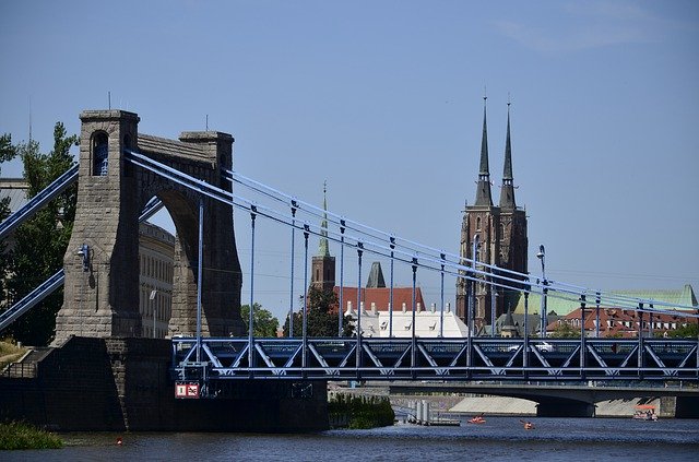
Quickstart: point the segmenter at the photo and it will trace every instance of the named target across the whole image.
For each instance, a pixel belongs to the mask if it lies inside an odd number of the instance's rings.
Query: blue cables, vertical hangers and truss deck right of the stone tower
[[[161,175],[177,185],[201,194],[200,202],[200,249],[199,249],[199,287],[198,318],[201,317],[201,291],[203,281],[203,198],[224,202],[254,216],[271,220],[282,226],[291,226],[293,230],[305,233],[305,284],[308,269],[308,237],[320,236],[323,229],[316,225],[298,225],[298,217],[293,213],[279,211],[273,206],[258,206],[252,200],[234,196],[230,191],[217,188],[203,180],[190,177],[175,168],[155,162],[142,154],[128,151],[127,161],[140,168]],[[269,198],[279,201],[286,208],[289,197],[262,183],[227,173],[232,181],[242,181]],[[236,177],[238,179],[236,179]],[[240,179],[242,178],[242,179]],[[306,214],[323,213],[311,205],[296,203],[295,206]],[[365,337],[359,329],[356,339],[311,339],[306,325],[307,306],[304,307],[304,335],[301,339],[256,339],[253,320],[250,320],[248,337],[203,339],[201,336],[201,319],[198,319],[197,337],[173,340],[173,371],[177,380],[203,381],[223,379],[386,379],[411,378],[416,380],[469,380],[496,378],[498,380],[583,380],[617,379],[623,380],[699,380],[699,342],[697,340],[644,339],[642,336],[642,319],[639,325],[639,340],[594,339],[588,340],[530,340],[524,320],[523,339],[477,337],[473,329],[475,309],[475,284],[490,284],[503,289],[517,289],[524,293],[525,315],[529,313],[529,294],[554,296],[566,299],[579,299],[584,303],[585,288],[565,283],[543,281],[530,283],[526,274],[499,269],[486,262],[477,261],[477,240],[474,239],[473,259],[462,260],[459,256],[418,245],[393,235],[382,233],[356,222],[328,213],[331,222],[340,224],[340,234],[324,229],[327,237],[344,247],[357,250],[358,288],[357,318],[362,316],[362,258],[364,252],[391,258],[394,262],[411,265],[413,269],[413,322],[411,339],[372,339]],[[320,216],[320,215],[318,215]],[[254,234],[254,225],[252,226]],[[348,233],[347,233],[348,232]],[[252,252],[252,258],[254,251]],[[419,257],[419,259],[418,259]],[[253,306],[254,261],[251,262],[251,299],[250,313]],[[342,263],[341,263],[342,264]],[[466,339],[418,339],[415,336],[416,315],[416,272],[418,270],[436,271],[443,275],[463,277],[473,286],[467,315],[471,334]],[[393,270],[391,271],[393,273]],[[62,275],[57,276],[62,282]],[[391,276],[391,286],[393,285]],[[522,284],[525,287],[522,288]],[[341,285],[342,271],[341,271]],[[293,289],[292,289],[293,292]],[[673,313],[678,311],[673,306],[655,300],[638,300],[615,294],[596,292],[595,303],[611,300],[615,306],[636,309],[639,313]],[[293,297],[293,294],[292,294]],[[292,298],[293,300],[293,298]],[[648,304],[648,308],[645,308]],[[654,305],[653,305],[654,304]],[[293,305],[293,304],[292,304]],[[657,308],[660,306],[660,308]],[[663,308],[665,307],[665,308]],[[289,308],[293,308],[289,307]],[[673,309],[671,309],[673,308]],[[680,307],[692,308],[692,307]],[[443,303],[442,303],[443,309]],[[584,310],[583,310],[584,311]],[[699,318],[699,313],[683,316]],[[641,318],[641,315],[639,315]],[[360,325],[358,319],[357,325]],[[340,321],[341,322],[341,321]],[[341,325],[341,324],[339,324]],[[545,324],[544,324],[545,325]],[[392,334],[392,327],[391,332]],[[196,360],[192,360],[194,358]],[[410,359],[408,359],[410,358]]]

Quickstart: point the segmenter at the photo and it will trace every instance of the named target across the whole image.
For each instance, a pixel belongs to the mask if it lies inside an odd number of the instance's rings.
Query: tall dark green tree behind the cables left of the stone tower
[[[68,137],[66,128],[57,122],[54,128],[54,150],[39,152],[39,144],[31,140],[14,150],[24,166],[31,199],[74,165],[70,147],[78,137]],[[75,218],[78,187],[74,185],[24,222],[14,232],[15,247],[10,253],[12,276],[8,281],[11,298],[21,299],[63,265],[70,234]],[[17,319],[10,328],[15,340],[28,345],[46,345],[56,329],[56,315],[63,301],[63,292],[56,291]]]

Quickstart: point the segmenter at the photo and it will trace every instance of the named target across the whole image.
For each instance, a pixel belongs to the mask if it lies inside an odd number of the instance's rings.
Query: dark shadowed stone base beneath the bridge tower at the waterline
[[[0,420],[56,431],[317,431],[325,381],[228,381],[215,399],[176,399],[171,343],[70,337],[0,377]]]

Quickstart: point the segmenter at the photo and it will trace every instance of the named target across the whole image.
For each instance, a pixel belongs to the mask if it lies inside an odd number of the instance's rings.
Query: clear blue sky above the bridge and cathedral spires
[[[487,88],[496,198],[512,103],[533,274],[544,244],[556,280],[699,288],[697,44],[695,1],[4,1],[0,132],[26,140],[31,106],[48,151],[108,92],[149,134],[208,115],[244,175],[318,204],[327,180],[332,211],[457,252]],[[287,234],[261,233],[284,265]],[[288,283],[266,271],[281,312]]]

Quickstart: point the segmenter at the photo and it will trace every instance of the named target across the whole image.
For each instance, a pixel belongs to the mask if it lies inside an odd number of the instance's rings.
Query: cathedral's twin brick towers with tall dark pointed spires
[[[510,104],[507,114],[507,138],[505,141],[505,168],[499,205],[493,204],[490,192],[490,171],[488,167],[488,133],[486,107],[483,106],[483,139],[481,141],[481,164],[476,200],[466,205],[461,225],[460,256],[462,259],[473,258],[476,241],[476,260],[526,273],[526,213],[517,206],[512,177],[512,150],[510,144]],[[464,264],[467,264],[462,260]],[[470,296],[473,295],[473,296]],[[508,307],[514,307],[517,293],[496,289],[484,283],[470,283],[465,279],[457,281],[457,315],[469,320],[467,307],[473,304],[474,333],[490,324],[490,320],[503,313]],[[470,300],[471,298],[471,300]]]

